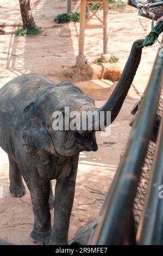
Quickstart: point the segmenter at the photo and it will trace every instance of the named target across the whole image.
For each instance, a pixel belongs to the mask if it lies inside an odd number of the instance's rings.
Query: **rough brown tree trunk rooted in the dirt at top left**
[[[36,24],[32,16],[32,11],[30,9],[29,0],[19,0],[21,16],[23,21],[23,29],[35,28]]]

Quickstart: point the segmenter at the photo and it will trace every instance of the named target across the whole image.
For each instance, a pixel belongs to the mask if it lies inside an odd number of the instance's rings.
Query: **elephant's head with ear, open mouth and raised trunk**
[[[49,154],[72,156],[80,151],[96,151],[97,143],[95,132],[101,130],[100,123],[106,127],[108,112],[111,112],[111,120],[115,120],[120,112],[124,99],[133,82],[136,70],[139,66],[142,53],[142,40],[134,42],[122,76],[117,83],[114,91],[108,101],[101,108],[95,106],[95,101],[71,83],[61,83],[59,86],[45,86],[39,90],[35,100],[24,109],[24,117],[29,120],[23,129],[23,142],[42,150]],[[82,129],[82,126],[75,130],[53,129],[53,113],[62,113],[65,115],[65,107],[70,112],[76,111],[80,114],[80,120],[83,113],[103,112],[103,119],[97,121],[93,118],[91,128],[89,124]],[[68,119],[70,125],[71,118]],[[82,123],[82,122],[81,122]]]

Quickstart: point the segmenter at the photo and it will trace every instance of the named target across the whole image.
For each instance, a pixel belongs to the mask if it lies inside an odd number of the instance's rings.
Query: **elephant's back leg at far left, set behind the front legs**
[[[23,185],[22,175],[18,164],[9,157],[9,179],[10,179],[10,193],[12,197],[22,197],[26,193],[26,188]]]

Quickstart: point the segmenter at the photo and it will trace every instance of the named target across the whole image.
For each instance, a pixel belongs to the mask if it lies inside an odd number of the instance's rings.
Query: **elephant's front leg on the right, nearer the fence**
[[[61,178],[55,186],[54,225],[49,245],[67,245],[68,228],[74,199],[76,170],[69,177]]]

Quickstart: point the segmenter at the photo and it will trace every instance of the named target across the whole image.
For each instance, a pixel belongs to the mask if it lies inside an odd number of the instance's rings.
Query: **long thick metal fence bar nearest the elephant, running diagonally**
[[[134,243],[133,202],[148,141],[153,131],[162,83],[163,58],[159,57],[158,53],[139,114],[129,136],[126,153],[106,195],[90,245]]]

